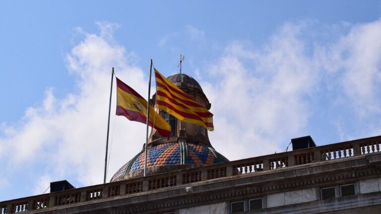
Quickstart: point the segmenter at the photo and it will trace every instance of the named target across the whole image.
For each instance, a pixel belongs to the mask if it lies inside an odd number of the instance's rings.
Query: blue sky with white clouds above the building
[[[111,67],[193,76],[230,160],[381,134],[381,1],[0,0],[0,201],[103,181]],[[113,104],[115,100],[113,100]],[[112,116],[108,179],[144,125]]]

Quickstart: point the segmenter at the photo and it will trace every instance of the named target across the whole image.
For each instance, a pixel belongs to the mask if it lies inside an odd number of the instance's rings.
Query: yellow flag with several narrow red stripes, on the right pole
[[[154,70],[156,107],[167,111],[181,121],[197,124],[213,131],[213,114],[165,78],[156,68]]]

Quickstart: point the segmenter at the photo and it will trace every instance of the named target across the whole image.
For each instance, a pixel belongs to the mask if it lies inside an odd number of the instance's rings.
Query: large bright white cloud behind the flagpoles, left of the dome
[[[40,187],[46,188],[49,183],[41,182],[50,178],[71,176],[82,185],[103,182],[112,67],[119,78],[146,94],[141,69],[128,63],[130,53],[125,48],[110,41],[116,25],[104,22],[98,26],[100,35],[83,33],[84,40],[67,54],[68,69],[80,77],[77,92],[57,99],[54,90],[48,89],[41,106],[29,107],[24,118],[13,126],[2,125],[0,151],[2,158],[9,160],[5,167],[39,164],[39,170],[49,172],[36,181],[35,193]],[[140,151],[145,127],[115,118],[115,95],[111,111],[111,133],[114,128],[115,134],[109,171],[113,173]]]

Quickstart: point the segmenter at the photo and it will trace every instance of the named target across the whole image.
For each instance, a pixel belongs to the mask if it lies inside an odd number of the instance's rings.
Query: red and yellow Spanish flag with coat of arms
[[[156,129],[160,135],[169,137],[171,126],[161,117],[153,107],[149,109],[149,126]],[[117,115],[129,120],[146,124],[147,101],[126,83],[117,78]]]

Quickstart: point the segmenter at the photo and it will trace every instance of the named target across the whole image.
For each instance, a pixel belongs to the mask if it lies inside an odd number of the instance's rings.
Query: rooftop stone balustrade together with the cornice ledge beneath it
[[[226,188],[229,186],[226,182],[232,179],[236,180],[232,185],[237,187],[248,185],[246,178],[253,184],[373,163],[380,167],[380,144],[381,136],[370,137],[3,201],[0,202],[0,214],[48,212],[185,187],[191,188],[186,188],[184,194],[191,194],[200,190],[197,186],[203,185],[208,185],[208,191],[214,191],[215,188]],[[273,173],[277,176],[271,176]]]

